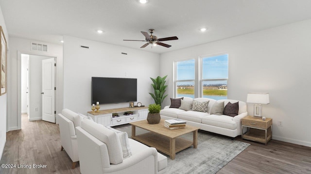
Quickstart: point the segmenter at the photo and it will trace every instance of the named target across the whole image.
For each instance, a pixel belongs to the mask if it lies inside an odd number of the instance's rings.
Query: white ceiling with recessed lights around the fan
[[[154,53],[311,19],[311,0],[0,0],[0,6],[10,36],[60,44],[70,35]],[[170,48],[122,41],[144,40],[140,31],[148,29],[179,40],[163,42]]]

